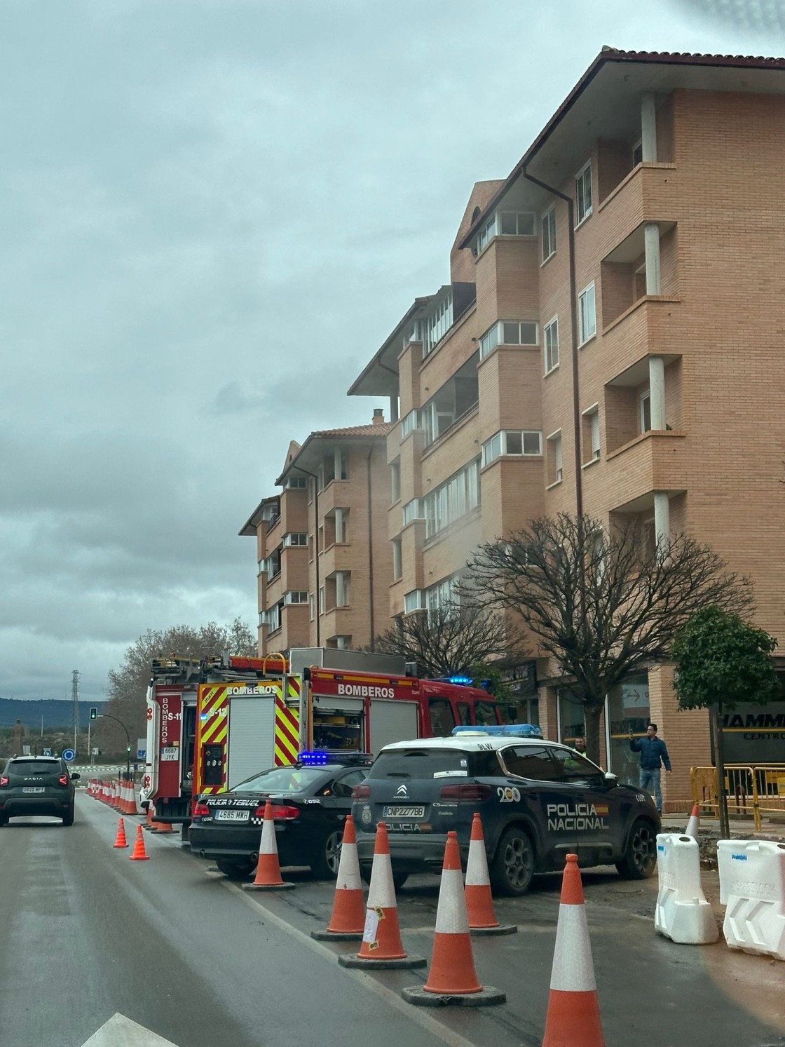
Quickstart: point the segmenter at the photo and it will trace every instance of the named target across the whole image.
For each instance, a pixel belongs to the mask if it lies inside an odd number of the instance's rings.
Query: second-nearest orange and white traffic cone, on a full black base
[[[504,1003],[507,996],[490,985],[483,987],[474,970],[469,915],[466,910],[464,877],[457,833],[447,833],[442,883],[439,889],[436,930],[433,955],[425,985],[405,988],[401,996],[408,1003],[439,1007],[446,1003],[478,1007]]]

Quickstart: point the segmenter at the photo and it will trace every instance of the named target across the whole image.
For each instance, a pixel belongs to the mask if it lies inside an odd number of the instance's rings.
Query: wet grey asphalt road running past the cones
[[[558,877],[497,905],[518,934],[474,943],[480,981],[507,1004],[424,1010],[399,996],[424,972],[347,971],[336,955],[356,944],[311,939],[330,916],[329,885],[295,872],[295,890],[249,895],[177,834],[145,833],[151,861],[130,862],[112,848],[116,827],[116,812],[80,795],[71,828],[29,819],[0,830],[3,1044],[539,1047]],[[785,1045],[785,965],[656,935],[656,879],[592,871],[584,887],[607,1047]],[[430,957],[438,891],[421,876],[399,894],[411,953]]]

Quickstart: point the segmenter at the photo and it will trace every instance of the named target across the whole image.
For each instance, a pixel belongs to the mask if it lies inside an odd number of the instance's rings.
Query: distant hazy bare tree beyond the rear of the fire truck
[[[144,695],[153,659],[176,654],[180,658],[220,658],[228,648],[232,654],[253,655],[256,643],[239,618],[230,625],[208,622],[195,629],[175,625],[169,629],[148,629],[127,648],[119,669],[109,671],[108,701],[104,709],[129,730],[131,743],[147,731]],[[96,744],[111,752],[125,752],[126,735],[112,720],[98,720]]]

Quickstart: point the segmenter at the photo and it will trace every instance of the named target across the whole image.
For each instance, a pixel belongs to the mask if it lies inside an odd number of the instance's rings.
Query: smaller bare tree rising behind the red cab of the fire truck
[[[513,664],[523,656],[503,614],[447,603],[406,615],[374,641],[374,650],[417,662],[421,676],[474,674],[489,661]]]

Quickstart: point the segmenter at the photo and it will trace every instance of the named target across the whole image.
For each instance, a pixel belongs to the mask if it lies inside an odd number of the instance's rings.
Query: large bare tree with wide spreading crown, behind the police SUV
[[[608,533],[599,520],[564,513],[480,545],[466,593],[478,606],[520,615],[583,703],[586,748],[597,760],[612,687],[667,660],[674,633],[701,607],[749,612],[750,583],[726,566],[686,535],[647,550],[634,522]]]

